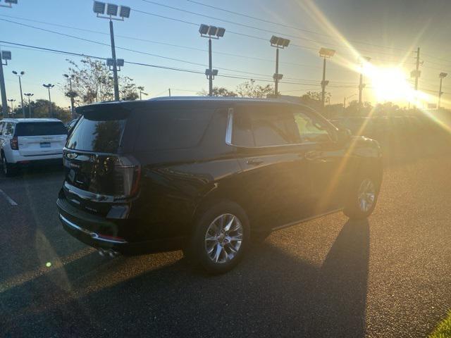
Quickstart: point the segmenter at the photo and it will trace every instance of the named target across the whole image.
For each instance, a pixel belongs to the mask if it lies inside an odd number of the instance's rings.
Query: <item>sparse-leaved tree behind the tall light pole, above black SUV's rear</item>
[[[69,63],[68,75],[65,77],[63,92],[73,97],[75,104],[92,104],[96,101],[114,99],[114,82],[109,68],[104,61],[84,58],[80,64],[66,59]],[[70,82],[72,81],[72,91]],[[118,77],[121,99],[135,100],[139,97],[136,84],[130,77]]]

